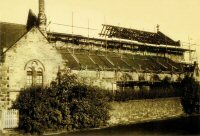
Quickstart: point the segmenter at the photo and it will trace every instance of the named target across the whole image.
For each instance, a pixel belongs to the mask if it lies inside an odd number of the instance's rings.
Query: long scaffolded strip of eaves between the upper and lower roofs
[[[130,51],[149,51],[152,53],[169,53],[175,55],[183,55],[184,52],[194,51],[181,46],[171,45],[155,45],[147,43],[139,43],[132,40],[112,39],[112,38],[91,38],[81,35],[72,35],[56,32],[47,32],[48,40],[50,42],[61,41],[66,44],[71,43],[78,46],[94,45],[97,47],[104,47],[107,49],[124,49]]]

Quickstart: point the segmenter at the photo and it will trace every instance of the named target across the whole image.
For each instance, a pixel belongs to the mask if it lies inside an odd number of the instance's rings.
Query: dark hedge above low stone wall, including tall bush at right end
[[[137,99],[156,99],[167,97],[181,97],[182,105],[186,113],[200,113],[200,82],[194,78],[185,78],[175,83],[167,77],[156,85],[146,89],[144,86],[139,90],[129,88],[117,90],[115,93],[107,92],[110,101],[128,101]]]

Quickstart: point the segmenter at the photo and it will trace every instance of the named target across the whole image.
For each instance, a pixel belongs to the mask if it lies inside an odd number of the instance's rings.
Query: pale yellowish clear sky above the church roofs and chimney
[[[96,37],[104,23],[150,32],[159,24],[161,32],[200,52],[200,0],[45,0],[45,8],[50,31]],[[38,0],[0,0],[0,21],[26,24],[29,9],[37,15]],[[56,25],[72,22],[95,30]]]

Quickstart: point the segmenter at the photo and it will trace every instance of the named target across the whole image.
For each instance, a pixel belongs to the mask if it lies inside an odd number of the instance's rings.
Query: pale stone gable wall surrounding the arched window
[[[29,68],[34,65],[41,67],[42,83],[43,86],[47,86],[56,78],[59,67],[63,66],[63,60],[60,53],[34,27],[6,52],[3,65],[9,69],[8,76],[3,78],[9,77],[7,93],[12,101],[21,89],[28,86]]]

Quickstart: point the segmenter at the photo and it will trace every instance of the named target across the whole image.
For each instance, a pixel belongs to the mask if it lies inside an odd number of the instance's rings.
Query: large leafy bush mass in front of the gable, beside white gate
[[[82,129],[106,125],[108,99],[103,90],[78,82],[70,72],[59,73],[46,88],[24,89],[12,108],[19,109],[19,128],[27,133],[48,129]]]

